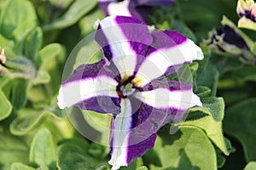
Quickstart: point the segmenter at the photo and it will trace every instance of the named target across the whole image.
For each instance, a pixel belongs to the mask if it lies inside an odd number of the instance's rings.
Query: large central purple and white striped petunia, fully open
[[[150,32],[125,16],[100,21],[95,39],[104,59],[80,65],[61,84],[58,105],[113,114],[109,163],[116,170],[151,149],[160,127],[202,105],[191,85],[166,77],[203,54],[177,31]]]

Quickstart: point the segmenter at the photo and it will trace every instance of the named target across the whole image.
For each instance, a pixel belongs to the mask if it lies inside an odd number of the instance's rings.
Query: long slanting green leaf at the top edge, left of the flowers
[[[67,12],[61,16],[61,18],[51,22],[49,25],[44,26],[44,31],[49,31],[53,29],[61,29],[67,26],[72,26],[76,23],[84,14],[87,14],[92,8],[96,6],[97,1],[84,1],[76,0],[68,8]]]

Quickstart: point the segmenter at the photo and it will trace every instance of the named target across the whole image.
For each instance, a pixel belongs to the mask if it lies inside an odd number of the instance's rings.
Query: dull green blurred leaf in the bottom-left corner
[[[0,132],[0,169],[9,170],[13,162],[28,163],[28,146],[19,137]]]

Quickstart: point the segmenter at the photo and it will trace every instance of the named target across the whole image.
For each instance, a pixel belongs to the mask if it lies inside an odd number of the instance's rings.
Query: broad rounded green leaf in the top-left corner
[[[3,9],[0,19],[0,32],[4,37],[13,38],[13,33],[17,27],[19,32],[30,30],[33,24],[36,23],[37,15],[30,3],[27,0],[9,0],[7,6]]]

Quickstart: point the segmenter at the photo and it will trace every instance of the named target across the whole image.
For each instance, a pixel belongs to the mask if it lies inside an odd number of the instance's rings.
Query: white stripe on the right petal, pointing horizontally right
[[[202,106],[200,98],[192,92],[192,89],[170,91],[166,88],[157,88],[152,91],[137,92],[134,96],[157,109],[174,108],[184,111],[194,105]]]

